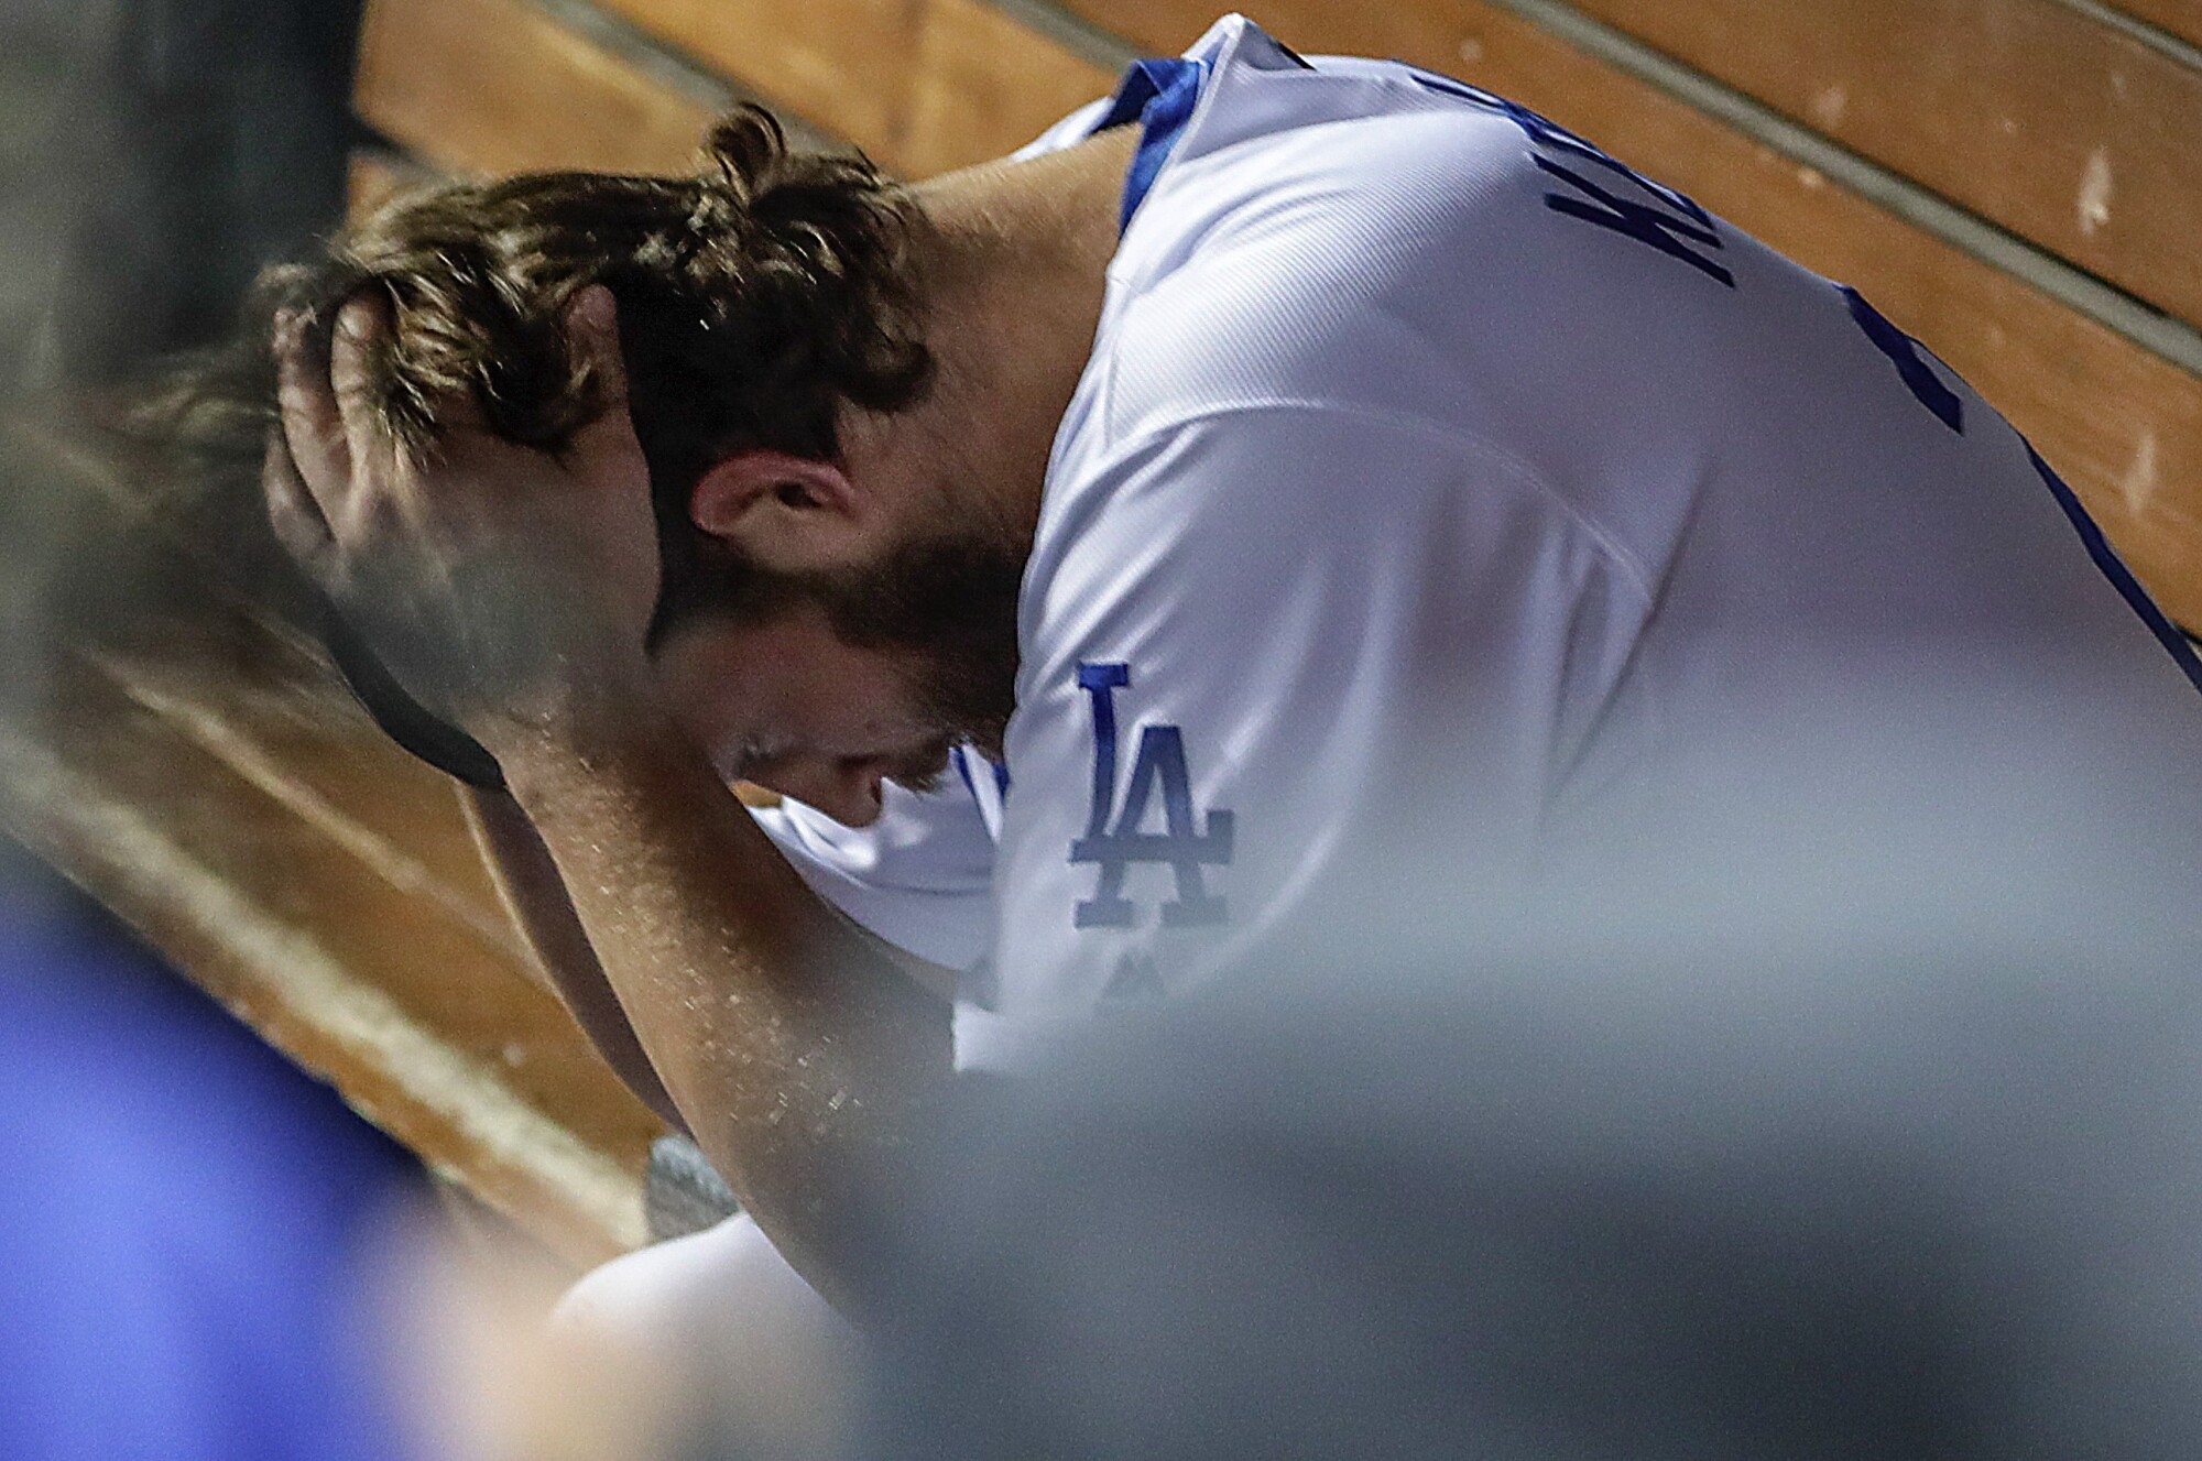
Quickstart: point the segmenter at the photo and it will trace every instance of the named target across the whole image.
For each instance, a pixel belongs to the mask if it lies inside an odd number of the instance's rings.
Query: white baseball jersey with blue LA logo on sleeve
[[[821,893],[973,966],[960,1063],[1255,962],[1389,819],[1511,869],[1845,675],[2076,651],[2202,759],[2184,640],[1856,293],[1533,112],[1235,15],[1035,147],[1103,125],[1143,141],[1006,768],[863,832],[771,819]]]

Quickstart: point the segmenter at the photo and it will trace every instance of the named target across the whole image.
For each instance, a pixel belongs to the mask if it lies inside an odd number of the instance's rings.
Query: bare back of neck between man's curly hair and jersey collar
[[[872,425],[892,438],[881,447],[927,462],[934,488],[989,521],[1020,559],[1101,321],[1136,145],[1138,128],[1119,128],[912,189],[936,376],[918,407]]]

